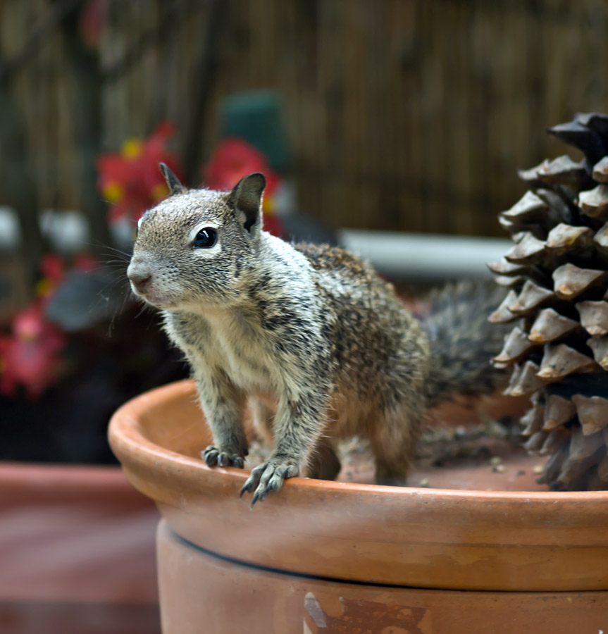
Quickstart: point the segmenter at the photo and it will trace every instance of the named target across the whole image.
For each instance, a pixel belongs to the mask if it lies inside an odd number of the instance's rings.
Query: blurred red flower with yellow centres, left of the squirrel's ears
[[[159,163],[166,163],[178,178],[178,159],[168,151],[166,142],[173,135],[173,124],[161,123],[152,135],[127,139],[120,153],[104,154],[97,159],[98,187],[112,204],[111,222],[128,216],[136,221],[151,206],[166,198],[168,189]]]

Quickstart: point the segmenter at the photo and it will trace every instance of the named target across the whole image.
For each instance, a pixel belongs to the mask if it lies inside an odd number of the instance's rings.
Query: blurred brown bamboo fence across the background
[[[608,110],[604,1],[106,0],[90,48],[83,6],[0,0],[0,204],[25,225],[83,209],[103,238],[96,154],[167,118],[200,165],[221,99],[271,89],[302,211],[502,235],[516,168],[564,153],[545,127]]]

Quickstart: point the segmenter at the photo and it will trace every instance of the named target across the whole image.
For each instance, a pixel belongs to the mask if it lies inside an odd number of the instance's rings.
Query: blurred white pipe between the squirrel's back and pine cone
[[[337,231],[342,247],[373,264],[379,273],[401,280],[478,278],[491,275],[513,246],[500,238],[395,233],[360,229]]]

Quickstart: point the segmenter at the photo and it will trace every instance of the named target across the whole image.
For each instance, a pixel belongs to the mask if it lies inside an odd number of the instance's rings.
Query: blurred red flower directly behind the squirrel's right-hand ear
[[[280,218],[274,213],[275,194],[279,175],[266,162],[266,156],[240,137],[228,137],[218,144],[211,160],[203,168],[204,184],[209,189],[228,192],[243,176],[261,172],[266,176],[263,198],[264,229],[274,235],[283,235]]]

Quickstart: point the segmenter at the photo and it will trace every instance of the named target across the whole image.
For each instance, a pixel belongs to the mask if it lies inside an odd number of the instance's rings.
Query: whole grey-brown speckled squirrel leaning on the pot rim
[[[428,408],[503,383],[490,366],[504,339],[487,323],[494,282],[452,287],[418,319],[356,256],[264,231],[261,173],[216,192],[160,167],[170,194],[140,218],[128,278],[190,362],[213,433],[205,463],[244,466],[247,405],[274,438],[241,490],[252,506],[295,475],[335,479],[333,444],[353,435],[379,483],[404,483]]]

